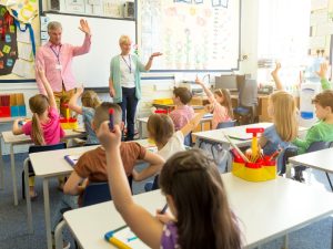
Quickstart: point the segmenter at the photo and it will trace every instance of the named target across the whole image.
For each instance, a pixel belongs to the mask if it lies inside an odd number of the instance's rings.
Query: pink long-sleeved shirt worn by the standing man
[[[91,38],[90,35],[85,35],[81,46],[73,46],[71,44],[53,45],[51,42],[48,42],[38,50],[36,62],[43,66],[53,92],[62,91],[62,82],[65,91],[75,87],[75,79],[72,72],[73,56],[88,53],[90,45]],[[36,73],[36,81],[40,93],[46,95],[46,90],[38,73]]]

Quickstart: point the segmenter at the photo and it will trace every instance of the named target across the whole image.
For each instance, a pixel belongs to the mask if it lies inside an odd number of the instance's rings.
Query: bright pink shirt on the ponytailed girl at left
[[[64,132],[60,126],[59,122],[59,113],[57,108],[49,108],[49,118],[50,121],[47,124],[41,123],[41,128],[43,131],[44,141],[47,145],[51,144],[58,144],[60,139],[64,136]],[[30,136],[33,141],[33,137],[31,136],[32,133],[32,122],[29,121],[22,126],[22,131],[26,135]]]

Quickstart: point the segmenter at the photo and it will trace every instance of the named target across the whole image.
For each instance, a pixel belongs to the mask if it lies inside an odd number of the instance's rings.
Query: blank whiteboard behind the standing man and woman
[[[50,21],[62,24],[62,42],[72,45],[83,43],[84,33],[79,30],[81,17],[47,13]],[[90,52],[73,59],[73,73],[78,85],[85,87],[109,87],[111,59],[120,54],[119,38],[129,35],[135,41],[135,22],[104,18],[83,18],[91,29]]]

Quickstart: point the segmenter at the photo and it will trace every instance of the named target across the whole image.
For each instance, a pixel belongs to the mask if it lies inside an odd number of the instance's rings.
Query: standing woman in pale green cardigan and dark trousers
[[[134,117],[137,105],[141,98],[140,72],[147,72],[155,56],[162,53],[153,53],[143,65],[135,54],[130,54],[132,41],[128,35],[119,39],[121,53],[111,60],[110,65],[110,96],[122,110],[122,121],[127,123],[128,133],[125,141],[134,138]]]

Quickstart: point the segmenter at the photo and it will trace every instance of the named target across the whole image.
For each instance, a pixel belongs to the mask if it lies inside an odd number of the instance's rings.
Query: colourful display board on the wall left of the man
[[[0,83],[34,81],[37,0],[0,0]]]

